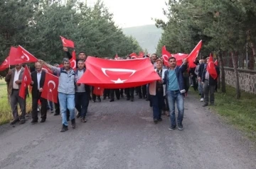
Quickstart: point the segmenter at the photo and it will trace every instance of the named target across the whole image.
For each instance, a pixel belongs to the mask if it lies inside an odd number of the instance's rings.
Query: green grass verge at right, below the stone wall
[[[235,88],[227,86],[226,89],[226,93],[215,93],[216,106],[210,106],[210,109],[256,142],[256,95],[241,91],[241,99],[237,100]]]

